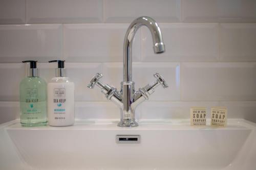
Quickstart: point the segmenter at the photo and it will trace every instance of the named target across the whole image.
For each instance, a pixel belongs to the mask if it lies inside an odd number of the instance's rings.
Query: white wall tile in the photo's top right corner
[[[254,0],[183,0],[185,22],[255,22]]]

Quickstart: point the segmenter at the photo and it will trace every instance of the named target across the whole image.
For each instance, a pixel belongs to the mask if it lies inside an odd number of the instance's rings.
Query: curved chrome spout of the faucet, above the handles
[[[156,54],[165,51],[163,37],[157,22],[148,16],[142,16],[135,19],[124,37],[123,43],[123,81],[132,82],[132,42],[136,31],[141,27],[146,26],[152,35],[153,49]]]

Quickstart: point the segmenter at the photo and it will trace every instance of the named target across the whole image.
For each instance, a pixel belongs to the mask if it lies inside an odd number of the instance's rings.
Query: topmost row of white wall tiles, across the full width
[[[2,0],[0,23],[255,22],[254,0]]]

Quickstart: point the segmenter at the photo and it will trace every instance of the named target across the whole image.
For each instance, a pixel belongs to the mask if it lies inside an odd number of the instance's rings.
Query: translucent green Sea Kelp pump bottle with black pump
[[[37,75],[37,61],[30,62],[28,77],[19,84],[20,124],[45,126],[47,124],[47,84]]]

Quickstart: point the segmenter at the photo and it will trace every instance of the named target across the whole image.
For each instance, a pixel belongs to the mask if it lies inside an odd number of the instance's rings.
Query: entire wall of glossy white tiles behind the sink
[[[166,52],[154,54],[150,32],[138,31],[136,89],[152,83],[154,72],[169,88],[158,88],[138,107],[137,118],[188,118],[191,106],[208,111],[226,106],[228,117],[256,122],[256,1],[4,0],[0,123],[18,117],[19,82],[26,76],[20,62],[27,59],[38,60],[46,81],[54,77],[55,64],[49,60],[67,61],[67,75],[75,82],[76,118],[119,118],[119,109],[100,90],[86,86],[101,72],[104,83],[120,89],[124,34],[142,15],[159,22]]]

